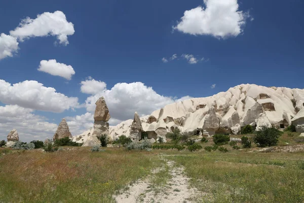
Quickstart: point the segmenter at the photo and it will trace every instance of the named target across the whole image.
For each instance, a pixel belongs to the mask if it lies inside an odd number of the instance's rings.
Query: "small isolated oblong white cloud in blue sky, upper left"
[[[53,76],[60,76],[67,80],[71,80],[72,75],[75,74],[75,71],[71,65],[58,63],[55,59],[40,61],[40,66],[37,70]]]

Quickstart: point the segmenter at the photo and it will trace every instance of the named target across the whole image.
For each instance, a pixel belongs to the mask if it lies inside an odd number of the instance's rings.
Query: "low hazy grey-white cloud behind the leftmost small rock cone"
[[[57,125],[35,115],[32,109],[17,105],[0,106],[0,140],[6,140],[12,129],[17,129],[21,141],[30,142],[51,138]]]

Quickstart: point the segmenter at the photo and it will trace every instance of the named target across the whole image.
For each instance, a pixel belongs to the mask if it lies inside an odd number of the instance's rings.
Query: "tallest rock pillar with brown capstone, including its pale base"
[[[84,141],[83,147],[92,147],[96,145],[100,145],[99,138],[102,135],[108,136],[109,141],[112,140],[112,137],[109,136],[109,123],[107,122],[111,116],[109,114],[109,109],[106,106],[104,97],[100,97],[96,101],[96,109],[94,113],[94,129],[93,132],[88,132],[88,134],[84,134],[81,138],[78,136],[77,142]]]

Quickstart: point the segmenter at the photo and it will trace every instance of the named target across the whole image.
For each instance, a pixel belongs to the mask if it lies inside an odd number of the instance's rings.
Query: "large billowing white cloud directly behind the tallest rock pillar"
[[[133,118],[135,111],[141,116],[148,115],[155,110],[174,103],[176,100],[181,101],[191,98],[185,96],[177,99],[163,96],[154,91],[152,87],[147,87],[141,82],[118,83],[110,90],[104,89],[95,95],[89,96],[86,99],[88,112],[94,113],[96,108],[95,102],[101,96],[105,97],[109,108],[111,115],[109,123],[111,125]]]

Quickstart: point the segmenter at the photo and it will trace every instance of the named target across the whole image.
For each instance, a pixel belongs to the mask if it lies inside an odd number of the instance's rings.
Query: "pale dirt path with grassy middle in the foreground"
[[[168,161],[145,180],[128,186],[122,194],[116,196],[118,203],[133,202],[193,202],[197,191],[190,188],[189,178],[184,175],[183,167],[175,167]]]

